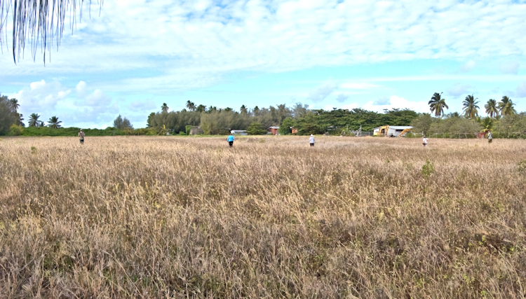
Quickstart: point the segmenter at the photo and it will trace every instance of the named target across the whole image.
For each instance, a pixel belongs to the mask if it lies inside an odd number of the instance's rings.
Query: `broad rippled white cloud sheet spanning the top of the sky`
[[[8,76],[126,72],[113,87],[121,90],[187,90],[232,71],[400,60],[459,60],[470,71],[487,58],[523,59],[525,14],[512,0],[107,1],[100,16],[85,15],[65,34],[45,68],[27,57],[15,67],[6,52],[0,64]],[[155,71],[137,74],[145,69]]]

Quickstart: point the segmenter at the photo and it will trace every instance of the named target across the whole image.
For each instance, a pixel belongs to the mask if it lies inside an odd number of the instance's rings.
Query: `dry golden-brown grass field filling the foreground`
[[[0,139],[0,298],[525,297],[525,141],[307,140]]]

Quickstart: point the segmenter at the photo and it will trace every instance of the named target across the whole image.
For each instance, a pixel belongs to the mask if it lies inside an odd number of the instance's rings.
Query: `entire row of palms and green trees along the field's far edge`
[[[497,102],[489,99],[485,104],[487,117],[478,115],[480,106],[476,97],[468,95],[462,102],[462,113],[445,113],[449,109],[442,93],[435,92],[429,101],[431,113],[417,113],[410,109],[384,110],[384,113],[365,109],[309,109],[309,106],[296,103],[293,106],[249,108],[242,105],[238,111],[227,107],[205,106],[187,101],[180,111],[170,111],[163,103],[161,111],[150,113],[147,127],[134,129],[128,118],[121,115],[113,122],[112,134],[166,134],[179,132],[188,134],[189,127],[200,126],[204,134],[228,134],[230,130],[247,130],[249,134],[265,134],[267,128],[278,126],[281,134],[341,134],[342,130],[371,131],[382,125],[412,125],[414,132],[480,132],[498,130],[499,132],[523,132],[526,129],[525,113],[517,113],[513,101],[504,96]],[[12,130],[20,134],[25,127],[24,118],[18,113],[20,104],[17,99],[8,99],[0,95],[0,134],[9,134]],[[56,116],[49,118],[47,124],[37,113],[32,113],[27,121],[28,127],[48,127],[60,129],[62,121]],[[14,127],[13,127],[14,126]],[[18,132],[18,133],[17,133]],[[13,134],[14,134],[13,133]],[[53,133],[55,134],[55,133]]]

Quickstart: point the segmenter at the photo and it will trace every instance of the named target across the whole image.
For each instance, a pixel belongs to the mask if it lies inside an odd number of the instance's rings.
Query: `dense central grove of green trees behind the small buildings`
[[[148,127],[166,126],[174,132],[186,132],[187,125],[200,126],[204,134],[228,134],[230,130],[247,130],[250,133],[265,134],[271,126],[280,127],[281,134],[291,134],[292,128],[298,134],[323,134],[335,132],[342,128],[363,127],[372,130],[380,125],[410,125],[418,113],[410,109],[391,109],[384,113],[365,109],[309,109],[309,105],[296,103],[293,106],[279,104],[268,108],[255,106],[248,108],[242,105],[238,111],[227,107],[196,105],[188,101],[186,108],[170,111],[166,103],[161,111],[151,113],[147,120]],[[249,130],[250,129],[250,130]]]

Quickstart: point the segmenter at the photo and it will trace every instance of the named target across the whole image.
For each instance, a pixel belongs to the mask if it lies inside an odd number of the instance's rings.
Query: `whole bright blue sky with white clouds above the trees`
[[[45,66],[29,48],[15,65],[4,37],[0,92],[24,116],[102,128],[121,114],[144,127],[163,102],[187,100],[427,112],[434,92],[447,112],[471,94],[483,116],[504,95],[526,111],[524,0],[107,0],[91,18],[87,5]]]

